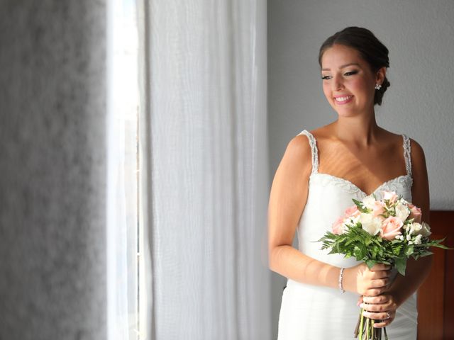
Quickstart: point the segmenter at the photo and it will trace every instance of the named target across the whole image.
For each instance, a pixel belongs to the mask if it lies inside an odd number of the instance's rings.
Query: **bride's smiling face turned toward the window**
[[[382,84],[385,68],[372,72],[360,53],[333,45],[321,58],[323,93],[338,115],[351,117],[373,112],[375,84]]]

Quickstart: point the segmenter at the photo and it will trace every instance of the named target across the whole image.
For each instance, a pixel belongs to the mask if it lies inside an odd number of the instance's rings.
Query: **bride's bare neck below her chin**
[[[334,124],[339,140],[358,146],[372,144],[376,140],[379,131],[374,111],[369,115],[339,117]]]

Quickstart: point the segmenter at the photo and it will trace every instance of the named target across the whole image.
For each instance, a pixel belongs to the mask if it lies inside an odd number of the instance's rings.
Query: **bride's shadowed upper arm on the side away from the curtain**
[[[416,141],[411,142],[411,169],[413,174],[413,186],[411,187],[411,196],[413,204],[422,210],[422,220],[430,223],[429,210],[430,198],[428,188],[428,176],[426,167],[426,157],[423,149]]]

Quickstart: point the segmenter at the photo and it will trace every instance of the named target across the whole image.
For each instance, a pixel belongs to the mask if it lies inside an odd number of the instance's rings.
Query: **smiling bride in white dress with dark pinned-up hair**
[[[323,93],[338,119],[288,144],[275,174],[268,215],[270,269],[288,278],[279,340],[353,339],[360,305],[389,339],[416,339],[416,294],[431,257],[409,260],[406,276],[321,251],[320,239],[352,205],[396,191],[422,210],[429,195],[423,149],[380,128],[374,106],[389,86],[388,50],[370,30],[348,27],[319,52]],[[299,249],[292,247],[297,231]],[[341,268],[345,268],[341,271]],[[343,293],[345,290],[345,293]]]

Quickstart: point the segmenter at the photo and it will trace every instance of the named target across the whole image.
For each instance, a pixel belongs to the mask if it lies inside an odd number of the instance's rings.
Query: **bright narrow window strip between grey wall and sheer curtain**
[[[108,19],[108,331],[143,340],[145,283],[140,223],[140,105],[135,0],[109,1]]]

